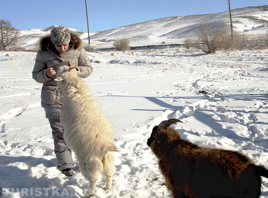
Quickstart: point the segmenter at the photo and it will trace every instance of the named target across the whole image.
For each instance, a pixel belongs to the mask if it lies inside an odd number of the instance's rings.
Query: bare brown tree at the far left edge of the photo
[[[12,27],[9,20],[0,20],[0,50],[5,51],[6,47],[15,44],[19,38],[20,31]]]

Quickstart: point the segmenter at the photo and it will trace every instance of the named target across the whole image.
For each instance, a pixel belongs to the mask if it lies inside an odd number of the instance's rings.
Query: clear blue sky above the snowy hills
[[[268,0],[230,0],[231,9],[268,5]],[[89,31],[132,23],[228,10],[228,0],[87,0]],[[0,19],[20,30],[63,25],[87,32],[84,0],[2,0]]]

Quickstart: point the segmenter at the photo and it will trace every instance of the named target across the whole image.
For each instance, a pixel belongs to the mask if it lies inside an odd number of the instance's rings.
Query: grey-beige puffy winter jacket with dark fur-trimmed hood
[[[52,64],[70,61],[81,72],[81,77],[86,78],[92,73],[92,66],[89,62],[86,51],[82,47],[81,39],[71,33],[69,48],[62,55],[57,52],[54,44],[50,41],[50,36],[43,37],[40,41],[40,50],[37,52],[35,65],[33,68],[33,79],[38,83],[43,83],[41,91],[42,107],[61,108],[62,94],[57,87],[57,81],[46,76],[46,68]]]

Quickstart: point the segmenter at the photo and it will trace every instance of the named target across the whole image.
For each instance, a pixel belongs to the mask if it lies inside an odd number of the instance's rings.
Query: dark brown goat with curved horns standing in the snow
[[[162,121],[147,141],[173,197],[259,197],[261,177],[268,170],[236,151],[197,146],[182,140],[169,127],[177,119]]]

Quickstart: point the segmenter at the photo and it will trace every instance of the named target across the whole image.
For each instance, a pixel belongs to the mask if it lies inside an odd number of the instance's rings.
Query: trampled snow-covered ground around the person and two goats
[[[75,161],[72,177],[57,169],[49,123],[32,79],[36,53],[0,52],[0,188],[2,197],[84,197]],[[146,141],[168,118],[182,138],[236,150],[268,167],[268,51],[184,53],[184,49],[88,53],[85,79],[114,125],[112,190],[99,177],[95,197],[170,197]],[[96,63],[101,61],[101,63]],[[95,63],[94,63],[95,62]],[[204,90],[208,94],[198,94]],[[178,170],[179,171],[179,170]],[[205,182],[205,181],[204,181]],[[5,196],[6,195],[6,196]],[[268,197],[263,178],[262,198]]]

